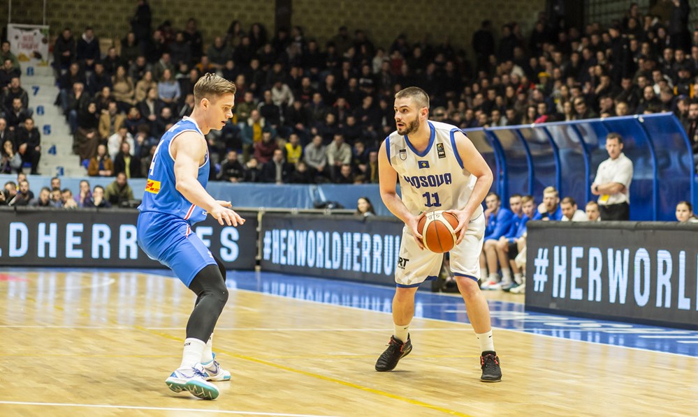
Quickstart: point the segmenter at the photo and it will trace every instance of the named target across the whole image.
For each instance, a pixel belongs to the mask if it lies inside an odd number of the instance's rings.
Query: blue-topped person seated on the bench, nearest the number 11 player
[[[520,200],[518,201],[520,202]],[[485,197],[485,204],[487,208],[485,209],[486,227],[483,247],[488,249],[483,250],[480,254],[480,268],[481,271],[488,271],[488,273],[482,273],[482,276],[486,276],[487,279],[483,279],[481,288],[500,289],[502,285],[500,283],[500,274],[497,273],[499,268],[497,267],[497,251],[495,247],[500,237],[509,232],[511,222],[514,220],[514,213],[511,213],[507,208],[502,208],[502,200],[495,192],[490,192]],[[518,208],[520,209],[520,206]],[[488,241],[492,242],[487,243]],[[509,280],[506,283],[508,284]]]

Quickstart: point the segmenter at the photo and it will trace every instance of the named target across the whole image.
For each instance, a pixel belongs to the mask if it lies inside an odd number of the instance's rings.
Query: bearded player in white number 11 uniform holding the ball
[[[470,139],[456,126],[429,121],[429,96],[409,87],[395,94],[397,131],[386,137],[378,153],[381,197],[386,207],[405,222],[400,259],[395,268],[393,335],[376,362],[390,371],[412,351],[409,323],[414,294],[427,279],[439,275],[444,255],[424,250],[417,230],[424,213],[446,210],[458,218],[451,271],[467,306],[467,315],[480,343],[481,380],[502,379],[495,353],[487,300],[480,292],[479,255],[485,232],[482,200],[492,185],[492,172]],[[395,183],[400,182],[400,194]]]

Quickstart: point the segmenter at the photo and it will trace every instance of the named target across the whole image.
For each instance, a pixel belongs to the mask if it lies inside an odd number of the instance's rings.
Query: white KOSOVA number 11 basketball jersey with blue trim
[[[386,137],[386,152],[398,172],[400,195],[410,213],[462,209],[467,204],[477,177],[463,168],[456,149],[456,126],[427,121],[431,129],[429,144],[418,152],[407,135],[395,131]],[[478,204],[472,218],[482,213]]]

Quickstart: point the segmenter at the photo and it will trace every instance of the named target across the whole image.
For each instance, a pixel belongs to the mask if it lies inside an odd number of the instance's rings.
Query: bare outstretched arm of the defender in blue
[[[245,222],[238,213],[226,206],[230,202],[217,202],[196,180],[198,167],[206,154],[206,142],[196,132],[183,132],[174,139],[171,146],[175,158],[175,188],[192,204],[208,211],[213,218],[223,225],[242,225]]]

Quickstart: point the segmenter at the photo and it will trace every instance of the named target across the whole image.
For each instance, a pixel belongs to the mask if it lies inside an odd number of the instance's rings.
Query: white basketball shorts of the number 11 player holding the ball
[[[480,279],[480,252],[485,236],[485,216],[480,213],[470,220],[463,241],[451,249],[451,272],[453,275]],[[419,287],[426,280],[435,280],[441,272],[444,255],[430,250],[419,249],[412,232],[407,226],[402,229],[400,259],[395,268],[395,282],[398,287]]]

